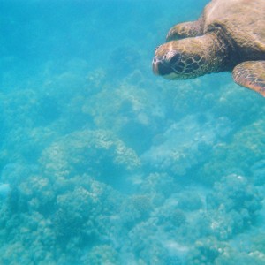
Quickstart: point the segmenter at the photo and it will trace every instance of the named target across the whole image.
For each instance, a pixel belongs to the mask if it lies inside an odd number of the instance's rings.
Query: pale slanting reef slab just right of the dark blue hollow
[[[215,119],[208,113],[186,116],[170,125],[162,140],[141,155],[141,159],[152,170],[184,178],[191,175],[198,164],[204,163],[211,146],[229,133],[230,122],[225,118]]]

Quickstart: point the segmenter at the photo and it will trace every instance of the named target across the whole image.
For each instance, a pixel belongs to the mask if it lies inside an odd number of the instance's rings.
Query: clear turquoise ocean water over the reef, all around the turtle
[[[0,264],[265,264],[261,95],[153,75],[206,0],[0,0]]]

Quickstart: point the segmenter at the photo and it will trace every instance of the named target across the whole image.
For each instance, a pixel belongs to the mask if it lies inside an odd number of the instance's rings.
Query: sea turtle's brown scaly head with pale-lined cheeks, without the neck
[[[155,49],[153,72],[165,79],[193,79],[209,72],[207,51],[195,39],[171,41]]]

